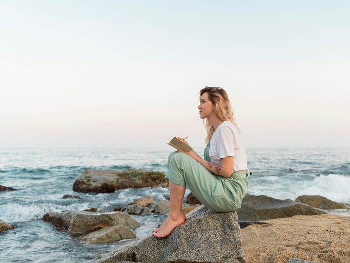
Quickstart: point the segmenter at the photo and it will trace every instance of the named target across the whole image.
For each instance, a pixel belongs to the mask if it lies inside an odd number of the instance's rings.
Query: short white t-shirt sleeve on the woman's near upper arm
[[[223,126],[217,130],[216,149],[219,158],[235,156],[234,133],[230,126]]]

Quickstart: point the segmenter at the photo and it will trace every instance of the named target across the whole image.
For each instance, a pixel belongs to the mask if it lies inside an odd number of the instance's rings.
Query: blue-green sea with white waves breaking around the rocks
[[[198,154],[204,148],[195,148]],[[81,245],[76,238],[42,220],[45,213],[117,206],[151,195],[154,201],[169,197],[167,188],[125,189],[107,194],[77,193],[72,186],[90,169],[142,168],[166,172],[171,147],[166,148],[0,148],[0,185],[17,191],[0,192],[0,219],[15,229],[0,233],[0,262],[97,262],[132,240]],[[350,148],[246,148],[249,194],[292,199],[321,195],[350,203]],[[189,194],[186,190],[185,196]],[[63,199],[66,194],[81,199]],[[350,216],[350,210],[332,210]],[[166,215],[133,217],[142,238]]]

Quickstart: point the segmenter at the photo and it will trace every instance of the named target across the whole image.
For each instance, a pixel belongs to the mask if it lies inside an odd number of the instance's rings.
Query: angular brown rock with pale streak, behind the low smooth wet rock
[[[122,212],[93,213],[84,211],[50,212],[43,216],[44,221],[69,234],[88,234],[101,228],[126,226],[137,228],[140,223]],[[102,226],[102,227],[99,227]]]

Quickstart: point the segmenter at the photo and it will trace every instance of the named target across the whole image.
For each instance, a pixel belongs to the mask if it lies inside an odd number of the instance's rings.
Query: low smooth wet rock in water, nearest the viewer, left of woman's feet
[[[102,228],[92,233],[79,237],[81,243],[105,243],[110,241],[118,241],[121,239],[135,238],[136,234],[128,227],[115,226]]]

